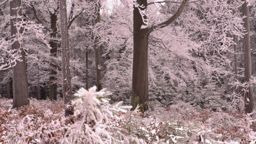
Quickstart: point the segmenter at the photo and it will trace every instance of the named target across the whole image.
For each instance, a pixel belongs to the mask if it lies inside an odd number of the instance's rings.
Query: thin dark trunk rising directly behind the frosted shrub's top
[[[95,24],[100,22],[100,1],[95,6],[96,11],[96,19]],[[101,55],[100,55],[100,45],[98,44],[99,38],[97,36],[94,36],[93,40],[93,48],[95,52],[95,67],[96,67],[96,83],[97,83],[97,91],[100,91],[102,89],[102,83],[101,83]]]

